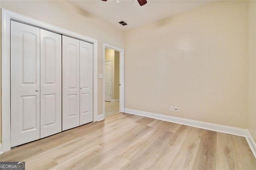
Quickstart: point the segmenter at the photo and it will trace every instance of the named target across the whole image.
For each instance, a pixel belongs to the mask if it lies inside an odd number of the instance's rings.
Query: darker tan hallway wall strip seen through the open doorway
[[[119,99],[119,65],[120,65],[120,53],[115,51],[115,65],[114,65],[114,99]]]

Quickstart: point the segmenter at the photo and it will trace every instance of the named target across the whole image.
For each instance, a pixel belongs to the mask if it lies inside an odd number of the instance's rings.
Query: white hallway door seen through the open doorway
[[[111,61],[105,61],[105,101],[111,101]]]

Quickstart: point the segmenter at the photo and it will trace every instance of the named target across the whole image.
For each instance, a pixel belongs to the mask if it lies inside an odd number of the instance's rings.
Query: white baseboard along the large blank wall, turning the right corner
[[[138,110],[134,110],[134,109],[126,109],[125,108],[124,113],[130,113],[133,115],[150,117],[153,119],[168,121],[168,122],[172,122],[172,123],[178,123],[178,124],[182,124],[182,125],[188,125],[191,127],[203,128],[203,129],[212,130],[212,131],[216,131],[216,132],[222,132],[222,133],[233,134],[233,135],[237,135],[237,136],[243,136],[246,138],[246,140],[252,150],[252,153],[254,154],[254,157],[256,158],[256,143],[255,143],[254,139],[252,138],[252,135],[250,134],[248,129],[230,127],[230,126],[225,126],[225,125],[218,125],[218,124],[202,122],[202,121],[194,121],[191,119],[172,117],[172,116],[168,116],[168,115],[161,115],[161,114],[157,114],[157,113],[138,111]]]

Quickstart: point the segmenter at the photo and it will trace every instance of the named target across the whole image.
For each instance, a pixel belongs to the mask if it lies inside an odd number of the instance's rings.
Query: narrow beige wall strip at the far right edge
[[[256,1],[248,1],[247,127],[256,141]]]

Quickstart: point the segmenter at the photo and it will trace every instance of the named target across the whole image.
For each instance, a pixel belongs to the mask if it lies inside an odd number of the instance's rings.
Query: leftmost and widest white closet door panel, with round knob
[[[11,21],[11,147],[40,138],[40,29]]]

